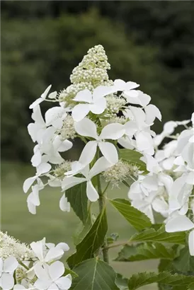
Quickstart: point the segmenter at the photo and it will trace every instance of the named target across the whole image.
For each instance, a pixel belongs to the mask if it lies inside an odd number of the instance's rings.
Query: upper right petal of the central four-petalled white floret
[[[122,124],[113,123],[103,127],[100,138],[116,140],[125,134],[125,129]]]

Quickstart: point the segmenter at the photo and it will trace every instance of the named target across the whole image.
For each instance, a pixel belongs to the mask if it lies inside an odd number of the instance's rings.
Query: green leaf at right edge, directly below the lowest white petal
[[[190,255],[187,246],[180,251],[179,257],[173,261],[173,267],[179,272],[194,274],[194,257]]]

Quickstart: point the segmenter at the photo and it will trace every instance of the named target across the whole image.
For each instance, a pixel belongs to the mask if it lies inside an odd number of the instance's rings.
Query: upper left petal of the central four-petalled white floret
[[[84,118],[80,122],[75,122],[74,127],[76,132],[81,136],[98,138],[96,124],[87,118]]]

